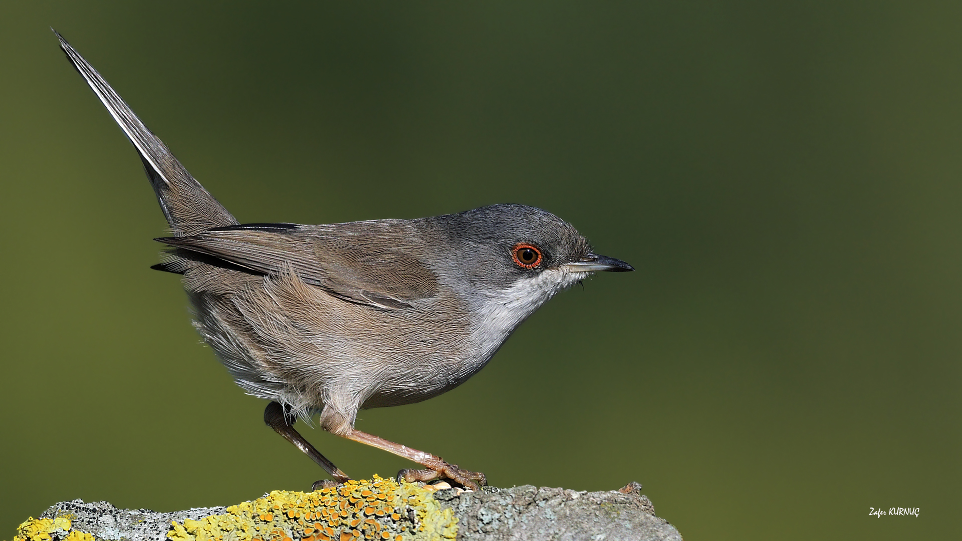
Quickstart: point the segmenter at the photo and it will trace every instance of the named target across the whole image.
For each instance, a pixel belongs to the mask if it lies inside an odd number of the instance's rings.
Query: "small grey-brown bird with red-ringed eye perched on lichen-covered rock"
[[[174,158],[107,81],[54,31],[67,59],[127,135],[172,236],[153,269],[183,274],[193,325],[265,422],[334,481],[347,477],[294,429],[317,414],[344,438],[410,459],[409,482],[462,470],[354,428],[360,409],[437,397],[491,360],[544,302],[598,270],[634,270],[597,255],[563,219],[498,204],[422,219],[240,223]]]

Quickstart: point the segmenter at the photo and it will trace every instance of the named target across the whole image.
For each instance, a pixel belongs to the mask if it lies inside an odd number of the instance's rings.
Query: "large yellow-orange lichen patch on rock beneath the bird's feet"
[[[276,511],[276,512],[275,512]],[[410,522],[410,512],[415,522]],[[382,517],[385,524],[374,520]],[[405,520],[400,520],[404,518]],[[382,521],[383,522],[383,521]],[[417,528],[415,528],[417,525]],[[274,491],[223,515],[173,523],[170,541],[348,541],[454,539],[457,519],[431,492],[374,476],[311,493]],[[46,540],[37,540],[46,541]]]

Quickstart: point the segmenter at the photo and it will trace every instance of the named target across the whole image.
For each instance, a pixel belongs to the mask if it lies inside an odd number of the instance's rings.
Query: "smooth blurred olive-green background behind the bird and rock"
[[[0,5],[0,539],[320,470],[199,344],[87,57],[241,222],[519,202],[637,272],[358,427],[687,540],[957,534],[962,4]],[[411,466],[300,425],[354,477]],[[920,517],[869,516],[919,507]],[[954,511],[953,511],[954,509]]]

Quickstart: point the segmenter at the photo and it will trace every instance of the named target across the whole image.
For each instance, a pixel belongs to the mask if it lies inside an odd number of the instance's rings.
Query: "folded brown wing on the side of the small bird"
[[[311,227],[249,223],[156,240],[263,274],[291,269],[331,295],[380,309],[405,308],[412,300],[437,294],[437,276],[410,247],[386,243],[383,237],[377,242],[376,229],[373,235],[338,235]]]

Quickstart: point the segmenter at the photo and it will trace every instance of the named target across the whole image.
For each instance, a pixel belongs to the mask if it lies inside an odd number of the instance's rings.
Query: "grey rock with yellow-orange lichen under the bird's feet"
[[[253,502],[173,513],[75,500],[20,525],[14,541],[681,539],[638,490],[433,488],[375,476],[316,492],[275,491]]]

